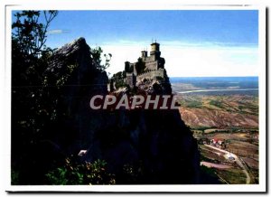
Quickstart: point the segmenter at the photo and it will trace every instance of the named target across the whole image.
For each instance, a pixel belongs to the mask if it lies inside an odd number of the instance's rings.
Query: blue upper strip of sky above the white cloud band
[[[89,42],[119,40],[257,44],[257,11],[60,11],[51,30]],[[51,44],[61,44],[53,37]],[[69,40],[67,40],[69,42]]]

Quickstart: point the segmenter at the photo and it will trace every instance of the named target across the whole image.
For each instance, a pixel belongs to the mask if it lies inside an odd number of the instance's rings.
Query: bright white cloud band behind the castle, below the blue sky
[[[111,74],[124,70],[124,62],[135,62],[148,42],[120,41],[101,45],[112,53]],[[255,45],[235,43],[160,42],[161,56],[170,77],[257,76],[258,52]]]

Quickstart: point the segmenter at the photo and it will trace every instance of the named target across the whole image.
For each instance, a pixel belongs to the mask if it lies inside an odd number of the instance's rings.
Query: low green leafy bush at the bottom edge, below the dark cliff
[[[104,160],[97,160],[92,164],[86,162],[78,164],[67,158],[65,165],[46,174],[51,184],[115,184],[114,174],[106,170],[107,163]]]

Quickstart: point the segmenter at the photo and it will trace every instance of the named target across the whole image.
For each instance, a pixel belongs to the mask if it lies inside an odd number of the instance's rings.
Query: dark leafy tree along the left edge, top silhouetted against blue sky
[[[42,15],[43,14],[43,15]],[[50,125],[51,100],[44,92],[44,70],[51,49],[47,30],[57,11],[22,11],[12,24],[12,169],[19,184],[39,183],[35,145]],[[44,18],[42,22],[42,17]],[[31,152],[33,150],[33,152]],[[34,156],[33,156],[34,155]],[[33,171],[33,173],[30,173]],[[14,176],[13,176],[14,178]]]

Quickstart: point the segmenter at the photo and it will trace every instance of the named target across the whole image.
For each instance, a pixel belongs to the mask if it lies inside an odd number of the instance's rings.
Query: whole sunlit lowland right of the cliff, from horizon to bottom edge
[[[182,119],[198,139],[201,164],[211,168],[220,183],[258,183],[257,78],[171,81]],[[226,152],[236,155],[235,160]]]

